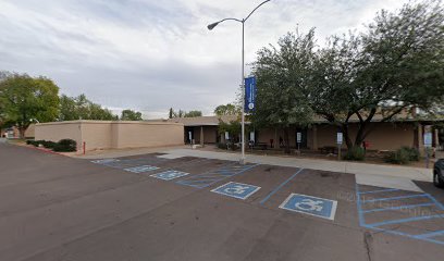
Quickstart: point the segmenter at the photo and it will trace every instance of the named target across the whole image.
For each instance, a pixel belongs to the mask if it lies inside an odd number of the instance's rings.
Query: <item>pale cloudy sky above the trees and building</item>
[[[46,76],[67,96],[119,113],[211,115],[240,84],[240,23],[262,0],[0,0],[0,71]],[[246,22],[245,59],[287,32],[316,27],[318,44],[362,30],[402,0],[272,0]],[[246,74],[249,74],[247,65]]]

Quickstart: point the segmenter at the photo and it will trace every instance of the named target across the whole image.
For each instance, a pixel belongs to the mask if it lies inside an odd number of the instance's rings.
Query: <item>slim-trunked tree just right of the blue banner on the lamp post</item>
[[[254,64],[257,77],[256,108],[251,120],[256,126],[284,129],[285,152],[289,153],[289,128],[306,126],[312,120],[307,90],[313,60],[314,32],[288,33],[279,47],[263,48]]]

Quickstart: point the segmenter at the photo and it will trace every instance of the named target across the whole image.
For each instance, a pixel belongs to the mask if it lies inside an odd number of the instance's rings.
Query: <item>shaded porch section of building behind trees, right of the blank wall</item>
[[[423,133],[428,126],[433,125],[430,121],[418,121],[408,115],[400,115],[403,119],[394,119],[393,122],[381,123],[372,122],[369,128],[372,132],[367,136],[366,142],[369,150],[396,150],[403,146],[423,148]],[[163,122],[174,122],[184,124],[184,142],[189,144],[194,139],[195,144],[217,144],[224,142],[224,135],[219,134],[218,125],[220,121],[229,123],[237,120],[236,116],[200,116],[200,117],[181,117],[169,120],[157,120]],[[375,116],[378,121],[378,116]],[[247,123],[248,124],[248,123]],[[350,137],[354,140],[358,129],[357,119],[351,119],[349,127]],[[429,132],[429,130],[428,130]],[[433,132],[433,147],[439,147],[439,130]],[[337,127],[330,125],[322,119],[317,119],[307,128],[292,128],[289,133],[289,145],[297,148],[297,133],[301,133],[300,148],[307,150],[320,150],[325,147],[336,147]],[[189,139],[189,135],[192,139]],[[249,140],[250,134],[246,134],[246,140]],[[284,132],[280,128],[255,129],[255,141],[266,145],[268,148],[276,148],[280,140],[283,139]],[[345,145],[343,146],[345,147]]]

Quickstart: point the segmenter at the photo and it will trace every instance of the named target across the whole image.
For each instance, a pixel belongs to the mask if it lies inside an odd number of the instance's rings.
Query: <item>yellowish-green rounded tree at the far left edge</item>
[[[59,87],[49,78],[11,74],[0,82],[3,121],[17,126],[23,138],[35,120],[51,122],[59,114]]]

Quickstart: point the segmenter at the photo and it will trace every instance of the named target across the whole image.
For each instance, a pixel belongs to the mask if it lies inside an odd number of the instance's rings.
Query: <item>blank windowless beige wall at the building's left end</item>
[[[72,121],[41,123],[35,138],[77,141],[78,150],[145,148],[183,145],[184,125],[169,122]]]

